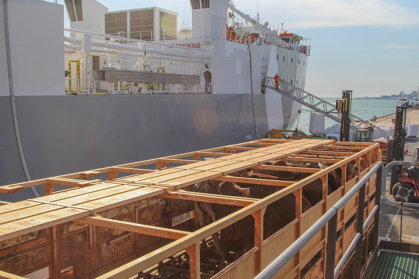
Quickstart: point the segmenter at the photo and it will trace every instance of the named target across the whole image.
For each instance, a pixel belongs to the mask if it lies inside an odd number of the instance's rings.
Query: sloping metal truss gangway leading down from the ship
[[[278,85],[279,85],[278,88],[276,88],[275,79],[271,77],[265,77],[262,80],[262,90],[263,88],[272,89],[273,91],[276,91],[282,94],[283,96],[291,98],[295,100],[296,102],[312,109],[315,112],[324,113],[324,115],[329,117],[330,119],[338,123],[341,123],[341,115],[337,112],[336,106],[334,104],[331,104],[324,99],[318,98],[314,96],[313,94],[310,94],[307,91],[304,91],[298,88],[297,86],[291,83],[285,82],[283,80],[280,80]],[[376,127],[374,124],[364,119],[361,119],[356,115],[349,114],[349,118],[350,118],[350,129],[352,130],[360,129],[360,126],[364,124],[367,126],[373,126],[374,129],[382,131],[390,136],[392,135],[388,131],[385,131],[379,127]]]

